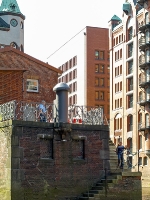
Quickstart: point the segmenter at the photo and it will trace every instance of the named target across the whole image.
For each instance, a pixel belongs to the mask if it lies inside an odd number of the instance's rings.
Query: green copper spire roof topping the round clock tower
[[[22,14],[16,0],[2,0],[0,12],[13,12]]]

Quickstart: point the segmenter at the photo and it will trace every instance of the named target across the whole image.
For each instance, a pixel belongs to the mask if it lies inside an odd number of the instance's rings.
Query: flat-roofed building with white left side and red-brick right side
[[[59,59],[58,59],[59,58]],[[70,88],[69,105],[102,107],[109,120],[108,29],[85,27],[49,57],[63,71],[58,82]]]

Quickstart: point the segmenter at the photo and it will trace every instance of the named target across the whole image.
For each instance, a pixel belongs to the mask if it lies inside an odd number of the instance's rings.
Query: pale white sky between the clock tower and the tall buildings
[[[1,3],[2,0],[0,0]],[[25,53],[44,62],[85,26],[108,28],[125,0],[17,0],[25,20]]]

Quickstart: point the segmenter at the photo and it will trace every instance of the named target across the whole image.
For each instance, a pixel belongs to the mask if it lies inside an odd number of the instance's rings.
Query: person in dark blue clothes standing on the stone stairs
[[[118,155],[118,167],[120,169],[123,169],[123,151],[127,148],[127,146],[123,146],[122,142],[118,143],[118,146],[116,148],[116,153]]]

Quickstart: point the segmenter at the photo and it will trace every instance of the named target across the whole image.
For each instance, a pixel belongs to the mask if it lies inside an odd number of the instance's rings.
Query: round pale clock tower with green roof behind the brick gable
[[[16,0],[2,0],[0,6],[0,48],[12,46],[24,51],[24,20]]]

